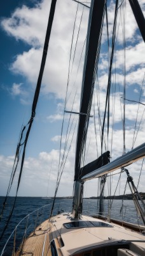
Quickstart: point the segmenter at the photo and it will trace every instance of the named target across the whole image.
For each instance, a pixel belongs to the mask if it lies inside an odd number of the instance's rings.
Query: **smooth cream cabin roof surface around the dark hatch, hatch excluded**
[[[62,252],[63,255],[71,255],[85,248],[95,248],[99,244],[109,245],[115,242],[125,243],[125,241],[130,241],[130,243],[141,247],[142,252],[144,252],[142,255],[145,255],[145,243],[142,243],[145,241],[145,236],[138,232],[90,216],[81,216],[80,221],[100,221],[111,225],[111,227],[66,228],[64,226],[64,223],[71,223],[73,221],[71,214],[59,214],[53,217],[51,221],[53,239],[58,239],[59,241],[61,237],[61,241],[64,243],[64,246],[61,246],[57,242],[57,250]]]

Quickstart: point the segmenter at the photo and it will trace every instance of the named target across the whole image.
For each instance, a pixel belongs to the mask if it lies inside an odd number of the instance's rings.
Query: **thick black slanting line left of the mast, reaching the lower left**
[[[41,60],[40,70],[39,70],[38,82],[37,82],[36,90],[35,90],[35,93],[34,93],[34,99],[33,99],[33,102],[32,102],[32,113],[31,113],[31,118],[30,118],[29,123],[28,123],[29,127],[28,127],[27,133],[25,135],[24,149],[23,149],[23,153],[22,153],[20,173],[19,173],[19,176],[18,176],[17,191],[16,191],[16,195],[15,195],[15,200],[14,200],[14,203],[13,203],[13,209],[15,207],[18,188],[20,186],[20,180],[21,180],[22,170],[23,170],[23,166],[24,166],[25,148],[26,148],[26,145],[27,145],[27,140],[29,138],[29,133],[31,131],[32,122],[33,122],[34,116],[36,114],[36,106],[37,106],[37,103],[38,103],[38,97],[39,97],[39,92],[40,92],[40,88],[41,88],[41,81],[42,81],[43,72],[44,72],[44,69],[45,69],[45,62],[46,62],[46,56],[47,56],[47,52],[48,52],[48,44],[49,44],[50,34],[51,34],[51,30],[52,30],[52,23],[53,23],[53,17],[54,17],[54,13],[55,13],[56,2],[57,2],[57,0],[52,0],[52,4],[50,6],[50,15],[49,15],[49,18],[48,18],[48,26],[47,26],[47,30],[46,30],[45,44],[44,44],[44,47],[43,47],[43,56],[42,56],[42,60]],[[8,227],[8,223],[10,221],[11,215],[13,214],[13,209],[10,213],[10,216],[8,217],[8,221],[6,223],[6,226],[3,229],[3,232],[1,234],[0,239],[3,237],[3,234],[6,230],[6,228]]]

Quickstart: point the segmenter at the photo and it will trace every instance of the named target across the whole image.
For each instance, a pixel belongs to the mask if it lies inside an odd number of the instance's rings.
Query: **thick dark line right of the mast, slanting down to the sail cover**
[[[104,125],[105,125],[105,119],[106,119],[107,103],[108,103],[107,133],[109,132],[109,93],[110,93],[110,86],[111,86],[111,71],[112,71],[113,56],[114,56],[114,42],[115,42],[115,35],[116,35],[116,20],[117,20],[117,14],[118,14],[117,8],[118,8],[118,0],[116,1],[115,13],[114,13],[113,38],[112,38],[111,58],[110,58],[110,65],[109,65],[109,77],[108,77],[108,82],[107,82],[106,106],[105,106],[104,120],[103,120],[103,125],[102,125],[101,154],[102,154],[102,146],[103,146]]]

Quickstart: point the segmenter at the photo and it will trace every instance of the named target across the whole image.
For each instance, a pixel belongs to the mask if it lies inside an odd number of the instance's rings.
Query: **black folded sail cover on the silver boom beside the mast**
[[[110,152],[107,151],[104,154],[102,154],[98,159],[92,161],[91,163],[86,164],[80,169],[80,176],[81,177],[85,176],[86,174],[93,172],[94,170],[97,170],[98,168],[106,165],[107,163],[110,163]]]

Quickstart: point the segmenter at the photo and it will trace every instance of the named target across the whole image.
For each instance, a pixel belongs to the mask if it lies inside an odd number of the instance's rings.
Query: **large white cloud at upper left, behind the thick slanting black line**
[[[43,76],[42,92],[54,93],[55,97],[59,99],[64,99],[66,95],[69,52],[72,37],[72,29],[70,29],[70,26],[72,27],[74,22],[70,17],[76,12],[76,6],[77,4],[73,3],[71,8],[69,8],[68,1],[58,1],[56,15],[53,21],[48,58],[46,60]],[[27,8],[27,6],[17,8],[11,15],[11,18],[3,19],[1,22],[3,29],[9,35],[15,36],[17,40],[24,40],[27,44],[31,45],[29,51],[16,56],[15,61],[11,64],[11,71],[26,77],[32,86],[36,84],[38,79],[49,9],[50,1],[48,3],[48,1],[44,0],[31,9]],[[80,6],[78,12],[79,19],[76,25],[77,29],[82,10],[82,6]],[[87,22],[86,16],[88,16],[88,10],[84,10],[83,22]],[[41,17],[43,17],[43,19],[41,19]],[[80,51],[79,49],[76,50],[79,52],[79,54],[76,54],[77,58],[81,55],[80,52],[85,40],[85,35],[86,28],[83,24],[78,43]],[[74,36],[77,36],[76,31]],[[72,52],[74,52],[74,46]],[[74,62],[75,61],[76,59],[74,59]],[[74,72],[76,68],[78,67],[74,65],[72,72]]]

